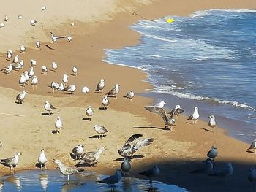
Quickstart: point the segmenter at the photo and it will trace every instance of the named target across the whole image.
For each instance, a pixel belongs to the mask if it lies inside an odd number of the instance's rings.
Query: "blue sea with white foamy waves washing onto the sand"
[[[105,50],[104,61],[147,72],[154,98],[169,107],[186,103],[190,115],[200,105],[204,120],[215,115],[232,137],[255,139],[256,11],[211,9],[130,28],[142,34],[141,43]]]

